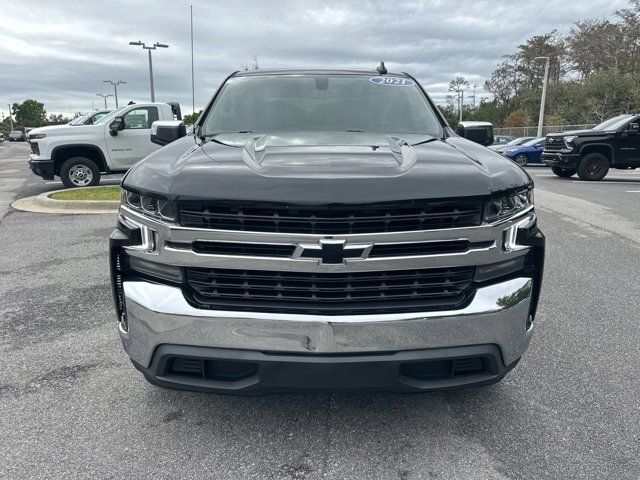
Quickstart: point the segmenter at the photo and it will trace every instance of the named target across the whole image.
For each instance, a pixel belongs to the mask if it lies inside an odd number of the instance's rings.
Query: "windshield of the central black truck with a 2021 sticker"
[[[232,78],[202,125],[205,136],[289,132],[441,136],[438,117],[414,81],[364,75]]]

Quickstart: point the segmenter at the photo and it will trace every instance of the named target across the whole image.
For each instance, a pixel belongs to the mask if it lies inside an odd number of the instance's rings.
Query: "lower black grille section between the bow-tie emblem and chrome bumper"
[[[324,315],[459,308],[474,267],[356,273],[186,268],[199,308]]]

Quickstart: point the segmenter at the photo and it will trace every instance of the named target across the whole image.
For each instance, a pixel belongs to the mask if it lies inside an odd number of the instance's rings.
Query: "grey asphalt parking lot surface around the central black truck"
[[[114,216],[12,210],[61,188],[26,154],[0,145],[0,478],[640,478],[640,173],[529,169],[544,291],[500,384],[238,398],[133,369],[108,282]]]

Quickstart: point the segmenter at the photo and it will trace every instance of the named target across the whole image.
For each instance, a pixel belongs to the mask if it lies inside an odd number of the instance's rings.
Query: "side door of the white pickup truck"
[[[134,107],[123,116],[125,127],[118,135],[111,136],[109,126],[106,127],[112,170],[127,170],[160,148],[151,143],[151,124],[158,120],[158,107]]]

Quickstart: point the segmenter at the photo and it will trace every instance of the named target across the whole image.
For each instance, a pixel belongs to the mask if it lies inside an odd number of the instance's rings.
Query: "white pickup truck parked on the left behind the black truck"
[[[136,103],[111,112],[93,125],[60,125],[29,132],[29,167],[45,180],[58,175],[68,188],[88,187],[100,175],[124,172],[154,152],[151,125],[181,120],[178,103]]]

